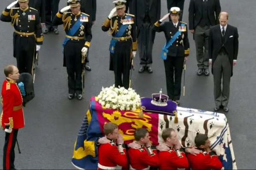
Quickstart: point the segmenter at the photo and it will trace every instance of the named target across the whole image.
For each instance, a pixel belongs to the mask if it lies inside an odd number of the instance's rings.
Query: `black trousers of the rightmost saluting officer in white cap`
[[[179,100],[184,57],[167,56],[163,62],[166,72],[167,95],[171,100]]]

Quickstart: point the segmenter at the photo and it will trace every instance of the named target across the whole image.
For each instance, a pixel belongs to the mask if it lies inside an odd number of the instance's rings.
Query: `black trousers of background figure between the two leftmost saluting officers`
[[[58,28],[52,25],[52,20],[58,12],[58,4],[60,0],[46,0],[45,1],[45,26],[47,28]]]

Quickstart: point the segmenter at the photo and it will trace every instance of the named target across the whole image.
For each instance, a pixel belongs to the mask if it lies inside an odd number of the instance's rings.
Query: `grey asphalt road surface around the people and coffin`
[[[12,0],[0,0],[3,11]],[[61,0],[59,7],[66,5]],[[188,22],[189,0],[185,1],[183,21]],[[231,138],[238,169],[255,169],[255,82],[256,60],[254,26],[256,25],[256,0],[221,0],[222,11],[230,14],[229,24],[239,30],[239,55],[233,70],[230,85],[229,113],[225,113],[230,125]],[[74,169],[71,164],[74,142],[81,122],[89,106],[91,96],[96,96],[102,86],[114,83],[113,72],[109,71],[108,46],[111,37],[101,30],[101,26],[113,8],[112,0],[98,0],[96,24],[93,26],[93,39],[90,46],[90,66],[92,71],[85,75],[85,96],[79,101],[67,98],[67,73],[62,67],[62,42],[60,34],[44,35],[39,66],[35,76],[35,98],[24,108],[26,125],[19,130],[15,166],[20,169]],[[166,0],[162,0],[161,16],[167,13]],[[12,28],[10,23],[0,22],[0,80],[4,80],[3,67],[15,64],[13,55]],[[181,96],[182,107],[213,111],[213,76],[197,76],[195,43],[189,33],[190,55],[186,69],[186,95]],[[152,93],[166,92],[166,81],[161,48],[165,43],[163,33],[157,33],[153,47],[153,74],[138,73],[139,57],[134,61],[132,88],[140,96],[150,97]],[[0,132],[0,168],[2,167],[4,132]]]

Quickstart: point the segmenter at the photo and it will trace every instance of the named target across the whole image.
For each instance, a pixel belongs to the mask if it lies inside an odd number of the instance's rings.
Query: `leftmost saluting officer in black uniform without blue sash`
[[[16,3],[20,8],[12,8]],[[35,50],[40,50],[43,44],[42,28],[38,11],[28,6],[28,0],[16,0],[1,14],[0,20],[11,22],[15,31],[13,34],[14,57],[20,73],[32,74]],[[36,49],[35,49],[36,48]]]

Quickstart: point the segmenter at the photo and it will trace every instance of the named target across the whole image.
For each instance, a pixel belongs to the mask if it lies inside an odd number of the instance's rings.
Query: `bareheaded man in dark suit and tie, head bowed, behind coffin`
[[[220,13],[219,22],[220,25],[211,27],[209,32],[209,64],[212,65],[214,81],[214,110],[218,111],[222,105],[224,111],[228,112],[230,77],[233,75],[233,65],[236,65],[239,36],[237,28],[227,24],[227,12]]]

